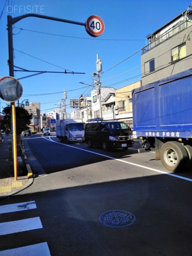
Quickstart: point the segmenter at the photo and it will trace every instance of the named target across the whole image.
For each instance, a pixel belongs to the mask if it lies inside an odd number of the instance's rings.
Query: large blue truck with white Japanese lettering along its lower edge
[[[133,130],[169,172],[192,166],[192,68],[132,90]],[[143,144],[144,145],[144,144]]]

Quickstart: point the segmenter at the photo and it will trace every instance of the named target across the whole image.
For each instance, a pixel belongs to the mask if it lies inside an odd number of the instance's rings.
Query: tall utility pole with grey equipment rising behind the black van
[[[96,61],[96,68],[97,72],[94,72],[92,76],[94,76],[94,83],[97,86],[97,95],[99,99],[99,117],[102,118],[102,108],[101,108],[101,83],[100,83],[100,76],[102,76],[102,60],[98,59],[97,54],[97,61]]]

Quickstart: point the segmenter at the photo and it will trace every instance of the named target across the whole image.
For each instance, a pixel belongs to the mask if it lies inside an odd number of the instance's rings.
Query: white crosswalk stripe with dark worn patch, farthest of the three
[[[0,206],[0,214],[30,210],[35,208],[37,208],[35,201],[23,202],[18,204],[7,204],[7,205]]]

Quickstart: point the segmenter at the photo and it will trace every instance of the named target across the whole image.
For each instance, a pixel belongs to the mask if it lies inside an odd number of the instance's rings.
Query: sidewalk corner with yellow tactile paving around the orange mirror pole
[[[18,193],[30,186],[33,178],[28,178],[27,171],[23,171],[20,164],[17,165],[17,180],[14,177],[12,165],[11,135],[3,135],[4,142],[0,143],[0,200]]]

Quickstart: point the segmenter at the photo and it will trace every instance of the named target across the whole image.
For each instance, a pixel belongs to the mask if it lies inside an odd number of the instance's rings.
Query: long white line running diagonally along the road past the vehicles
[[[74,146],[70,146],[70,145],[66,145],[66,144],[62,144],[62,143],[60,143],[60,142],[54,141],[54,140],[52,140],[51,138],[49,138],[49,140],[50,140],[51,142],[58,143],[58,144],[63,145],[63,146],[68,146],[68,147],[71,147],[71,148],[76,148],[76,147],[74,147]],[[178,179],[187,180],[187,181],[192,182],[192,179],[190,179],[190,178],[181,177],[181,176],[178,176],[178,175],[173,174],[173,173],[160,171],[160,170],[157,170],[157,169],[154,169],[154,168],[150,168],[150,167],[146,167],[146,166],[143,166],[143,165],[140,165],[140,164],[134,164],[134,163],[132,163],[132,162],[128,162],[128,161],[125,161],[125,160],[122,160],[122,159],[114,158],[114,157],[112,157],[112,156],[106,156],[106,155],[103,155],[103,154],[100,154],[100,153],[96,153],[96,152],[92,152],[92,151],[89,151],[89,150],[86,150],[86,149],[83,149],[83,148],[76,148],[76,149],[82,150],[82,151],[86,151],[86,152],[88,152],[88,153],[96,154],[96,155],[99,155],[99,156],[104,156],[104,157],[106,157],[106,158],[110,158],[110,159],[113,159],[113,160],[116,160],[116,161],[120,161],[120,162],[123,162],[123,163],[126,163],[126,164],[131,164],[131,165],[134,165],[134,166],[138,166],[138,167],[141,167],[141,168],[144,168],[144,169],[148,169],[148,170],[151,170],[151,171],[154,171],[154,172],[160,172],[160,173],[162,173],[162,174],[166,174],[166,175],[169,175],[169,176],[178,178]],[[141,153],[140,153],[140,154],[141,154]]]

